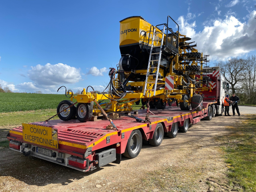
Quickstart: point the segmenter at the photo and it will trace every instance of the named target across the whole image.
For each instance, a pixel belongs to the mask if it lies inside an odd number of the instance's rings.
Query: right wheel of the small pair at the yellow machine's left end
[[[92,101],[93,102],[93,101]],[[90,121],[93,114],[93,103],[78,103],[76,115],[77,119],[81,122]]]

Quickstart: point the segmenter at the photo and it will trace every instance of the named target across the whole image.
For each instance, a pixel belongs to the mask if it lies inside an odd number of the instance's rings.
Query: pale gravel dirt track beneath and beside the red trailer
[[[256,108],[240,106],[240,111],[256,113]],[[121,164],[86,173],[0,149],[0,191],[207,191],[211,185],[215,191],[231,191],[219,138],[230,134],[226,126],[243,118],[202,120],[174,139],[164,137],[159,147],[143,146],[134,159],[122,157]]]

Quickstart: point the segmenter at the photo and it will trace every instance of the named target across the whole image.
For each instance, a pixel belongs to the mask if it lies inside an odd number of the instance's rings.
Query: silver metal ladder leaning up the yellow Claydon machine
[[[154,28],[154,30],[153,30],[153,38],[152,38],[152,44],[151,44],[151,48],[150,48],[150,57],[148,59],[148,69],[147,69],[146,81],[145,81],[145,85],[144,85],[143,96],[146,95],[146,91],[153,91],[154,90],[154,96],[156,94],[156,85],[157,85],[157,81],[158,81],[158,73],[159,73],[160,60],[161,60],[161,55],[162,55],[162,47],[163,47],[163,41],[164,41],[164,30],[165,30],[165,26],[163,28],[163,32],[156,32],[156,28]],[[162,34],[163,35],[160,46],[154,46],[154,41],[158,40],[158,39],[155,39],[155,35],[156,34]],[[157,47],[160,47],[160,52],[152,53],[153,48],[157,48]],[[152,59],[152,55],[156,55],[156,54],[159,54],[158,60],[151,60]],[[151,62],[154,62],[154,61],[158,61],[157,67],[155,67],[155,66],[152,67]],[[157,68],[156,74],[150,74],[150,70],[154,69],[154,68]],[[148,76],[153,76],[153,75],[156,75],[156,81],[155,82],[148,82]],[[147,89],[148,83],[155,83],[155,88],[154,89]],[[150,97],[150,95],[148,97]]]

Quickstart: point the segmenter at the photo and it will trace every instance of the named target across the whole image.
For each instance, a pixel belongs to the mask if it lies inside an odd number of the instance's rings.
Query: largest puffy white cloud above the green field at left
[[[35,82],[36,85],[61,85],[68,83],[77,83],[82,79],[80,68],[71,67],[67,64],[47,63],[42,66],[38,64],[28,70],[28,77]]]

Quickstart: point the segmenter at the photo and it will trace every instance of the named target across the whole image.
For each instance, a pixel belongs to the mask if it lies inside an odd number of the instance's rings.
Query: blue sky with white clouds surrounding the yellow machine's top
[[[176,2],[179,2],[176,4]],[[256,54],[256,0],[22,1],[0,0],[0,84],[17,92],[102,90],[119,62],[119,21],[178,21],[209,53],[211,64]],[[50,64],[47,64],[50,63]],[[105,68],[104,68],[105,67]]]

